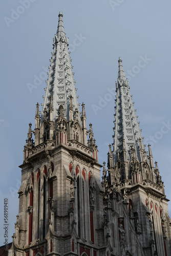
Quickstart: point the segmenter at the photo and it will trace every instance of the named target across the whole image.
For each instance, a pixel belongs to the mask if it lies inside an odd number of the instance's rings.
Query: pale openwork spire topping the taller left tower
[[[48,72],[49,77],[42,108],[42,113],[47,112],[46,118],[48,121],[50,120],[50,112],[53,121],[58,118],[60,105],[63,106],[63,117],[69,120],[70,95],[72,96],[73,112],[79,109],[78,96],[76,96],[75,81],[73,79],[74,73],[72,72],[73,67],[68,51],[69,44],[63,27],[62,12],[59,12],[58,16],[58,27],[53,40],[53,52]],[[42,114],[41,123],[43,120],[44,115]],[[79,111],[78,121],[81,124]]]

